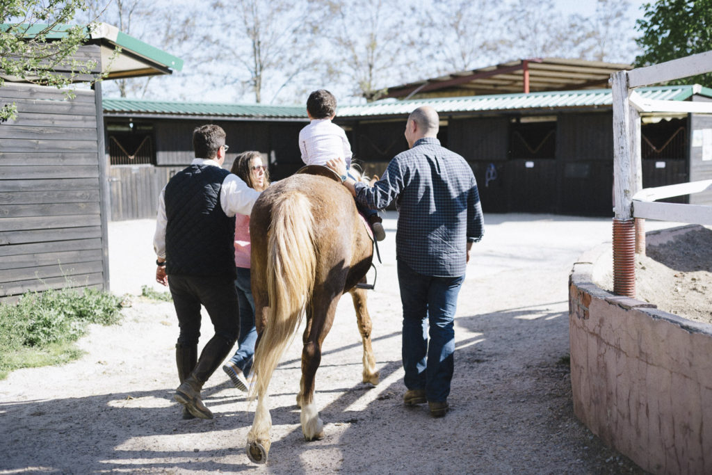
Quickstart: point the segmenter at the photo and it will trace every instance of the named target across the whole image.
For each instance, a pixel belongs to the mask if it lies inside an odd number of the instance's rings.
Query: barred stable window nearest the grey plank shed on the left
[[[155,165],[152,124],[109,122],[106,130],[111,165]]]

